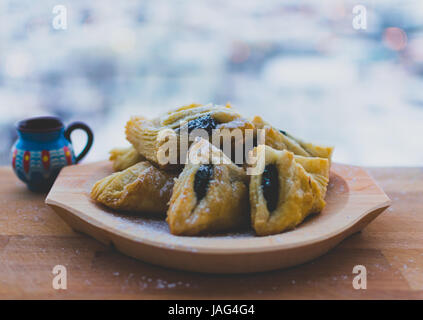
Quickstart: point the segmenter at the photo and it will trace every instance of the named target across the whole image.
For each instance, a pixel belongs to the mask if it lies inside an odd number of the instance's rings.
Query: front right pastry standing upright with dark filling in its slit
[[[257,173],[250,178],[251,223],[258,235],[292,229],[321,211],[329,180],[329,160],[294,156],[259,145]]]

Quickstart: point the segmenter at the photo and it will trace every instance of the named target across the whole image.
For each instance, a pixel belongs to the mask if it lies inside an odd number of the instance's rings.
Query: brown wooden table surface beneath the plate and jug
[[[423,168],[371,168],[392,206],[304,265],[252,275],[168,270],[72,231],[10,168],[0,168],[1,299],[423,299]],[[67,268],[67,290],[52,286]],[[355,290],[355,265],[367,289]]]

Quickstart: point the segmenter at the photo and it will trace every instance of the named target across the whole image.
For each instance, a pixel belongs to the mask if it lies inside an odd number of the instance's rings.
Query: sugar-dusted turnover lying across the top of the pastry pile
[[[168,167],[168,159],[163,161],[159,153],[160,147],[168,141],[166,136],[174,135],[178,149],[177,155],[185,156],[191,142],[182,145],[180,142],[182,133],[195,135],[198,132],[193,132],[195,129],[202,129],[208,134],[209,142],[213,142],[213,129],[221,131],[227,129],[226,132],[240,129],[241,132],[244,132],[245,129],[253,128],[253,124],[232,109],[230,105],[191,104],[165,113],[153,120],[132,117],[126,124],[126,138],[149,161],[161,167]],[[238,139],[235,136],[233,143],[243,143],[243,139],[243,135]],[[176,162],[186,163],[180,157]]]

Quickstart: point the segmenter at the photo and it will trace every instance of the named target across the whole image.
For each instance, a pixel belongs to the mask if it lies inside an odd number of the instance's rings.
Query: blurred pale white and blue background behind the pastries
[[[58,4],[66,30],[52,26]],[[29,116],[89,124],[95,161],[127,145],[133,114],[231,102],[334,145],[335,161],[421,166],[422,26],[421,0],[2,0],[0,164]]]

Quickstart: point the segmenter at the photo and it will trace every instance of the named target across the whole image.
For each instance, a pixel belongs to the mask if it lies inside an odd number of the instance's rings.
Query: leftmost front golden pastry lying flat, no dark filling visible
[[[116,210],[165,213],[175,177],[142,161],[95,183],[91,198]]]

